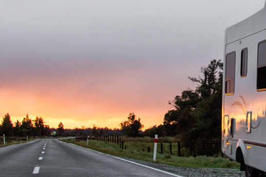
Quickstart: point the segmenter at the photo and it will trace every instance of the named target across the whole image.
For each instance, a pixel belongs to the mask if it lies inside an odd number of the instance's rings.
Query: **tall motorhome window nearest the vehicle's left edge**
[[[231,95],[235,91],[235,61],[236,52],[231,52],[226,55],[225,66],[225,94]]]

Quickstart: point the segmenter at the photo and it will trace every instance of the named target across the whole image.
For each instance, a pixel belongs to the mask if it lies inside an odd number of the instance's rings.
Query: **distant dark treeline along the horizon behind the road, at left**
[[[65,129],[62,122],[59,123],[58,128],[50,128],[49,125],[45,125],[42,117],[35,117],[35,120],[31,120],[29,115],[23,118],[22,122],[18,120],[15,124],[12,124],[9,113],[5,114],[0,125],[0,135],[5,136],[51,136],[51,132],[56,131],[54,136],[104,136],[104,135],[120,135],[121,130],[118,128],[109,129],[107,127],[101,128],[93,125],[92,128],[73,128]]]

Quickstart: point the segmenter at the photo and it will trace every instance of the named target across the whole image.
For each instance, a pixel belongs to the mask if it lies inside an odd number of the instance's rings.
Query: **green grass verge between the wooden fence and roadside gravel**
[[[97,150],[103,153],[127,157],[131,159],[147,161],[152,163],[160,163],[178,167],[201,167],[201,168],[231,168],[231,169],[239,169],[240,164],[235,161],[230,161],[228,158],[221,158],[221,157],[212,157],[212,156],[197,156],[196,158],[189,156],[176,156],[170,155],[168,153],[161,154],[157,153],[156,162],[153,161],[153,151],[151,152],[143,152],[140,150],[136,150],[136,146],[134,144],[127,144],[127,149],[122,150],[119,145],[109,142],[102,142],[102,141],[94,141],[90,140],[88,145],[86,141],[76,141],[75,139],[69,140],[61,140],[67,143],[73,143],[75,145],[79,145],[85,148]],[[137,146],[139,144],[137,143]]]

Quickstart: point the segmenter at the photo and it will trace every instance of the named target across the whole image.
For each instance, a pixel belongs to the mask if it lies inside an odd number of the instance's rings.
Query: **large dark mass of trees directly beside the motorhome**
[[[197,83],[196,89],[188,88],[169,101],[172,110],[164,115],[163,124],[146,129],[145,134],[177,135],[183,141],[221,139],[222,69],[221,60],[213,60],[201,67],[202,78],[188,77]]]

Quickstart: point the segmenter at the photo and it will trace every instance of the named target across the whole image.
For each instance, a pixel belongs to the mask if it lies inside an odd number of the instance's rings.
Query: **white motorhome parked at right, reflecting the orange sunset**
[[[223,66],[222,152],[256,176],[266,171],[266,2],[225,30]]]

